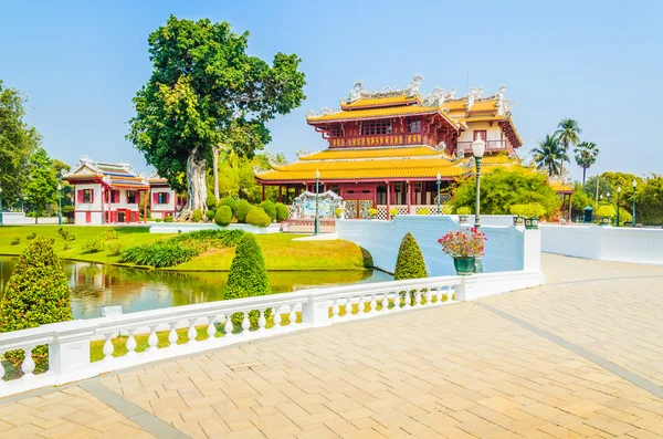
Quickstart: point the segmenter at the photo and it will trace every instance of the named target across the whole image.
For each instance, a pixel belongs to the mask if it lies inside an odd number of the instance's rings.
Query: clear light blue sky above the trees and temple
[[[296,53],[304,104],[270,123],[267,150],[290,160],[327,144],[307,109],[338,107],[357,80],[369,90],[507,86],[525,145],[571,117],[600,154],[588,175],[663,173],[663,1],[12,1],[0,0],[0,80],[28,98],[28,122],[52,157],[145,159],[125,139],[131,97],[151,72],[148,34],[178,18],[249,31],[249,52]],[[581,178],[571,166],[571,176]]]

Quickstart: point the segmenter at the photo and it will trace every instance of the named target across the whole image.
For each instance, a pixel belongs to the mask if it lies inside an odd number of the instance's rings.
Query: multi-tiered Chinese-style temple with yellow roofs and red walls
[[[482,171],[495,166],[519,166],[517,148],[523,140],[512,119],[513,102],[506,87],[484,96],[482,87],[456,97],[455,91],[419,92],[422,77],[414,76],[407,90],[367,92],[358,82],[340,108],[308,112],[306,122],[328,144],[327,149],[297,154],[290,165],[274,165],[257,173],[263,186],[278,186],[280,200],[332,190],[346,201],[349,218],[367,218],[377,208],[378,218],[389,210],[417,213],[436,210],[438,178],[441,202],[451,197],[451,182],[474,173],[472,142],[486,142]]]

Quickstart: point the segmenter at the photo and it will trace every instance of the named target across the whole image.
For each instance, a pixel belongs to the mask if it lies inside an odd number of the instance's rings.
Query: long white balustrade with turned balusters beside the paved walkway
[[[428,278],[176,306],[4,333],[0,334],[0,354],[15,349],[31,353],[35,346],[49,345],[49,369],[35,375],[34,360],[25,355],[20,365],[22,376],[0,380],[0,397],[249,339],[448,305],[543,282],[545,278],[538,271]],[[255,328],[251,328],[248,318],[248,312],[253,310],[260,314]],[[275,311],[270,314],[267,310]],[[244,316],[241,327],[233,327],[231,315],[238,312]],[[201,326],[206,336],[197,337]],[[182,344],[178,344],[180,327],[187,335]],[[126,346],[126,355],[116,356],[114,342],[118,343],[118,334],[126,334],[120,342]],[[137,351],[138,334],[149,334],[148,347],[143,352]],[[161,343],[167,339],[166,347],[159,347],[159,335]],[[98,362],[91,362],[91,343],[94,341],[104,341],[104,358]]]

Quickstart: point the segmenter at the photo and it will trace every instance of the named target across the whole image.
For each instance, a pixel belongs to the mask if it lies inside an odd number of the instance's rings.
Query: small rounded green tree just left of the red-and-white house
[[[57,197],[57,177],[53,160],[44,148],[39,148],[30,159],[30,178],[25,186],[25,199],[34,211],[34,222]]]

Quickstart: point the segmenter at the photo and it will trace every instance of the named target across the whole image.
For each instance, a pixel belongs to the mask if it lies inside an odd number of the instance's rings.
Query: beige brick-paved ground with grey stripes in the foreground
[[[0,400],[0,438],[663,437],[663,268],[544,270],[546,286],[478,303]]]

